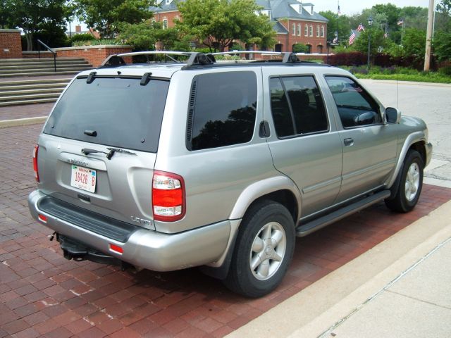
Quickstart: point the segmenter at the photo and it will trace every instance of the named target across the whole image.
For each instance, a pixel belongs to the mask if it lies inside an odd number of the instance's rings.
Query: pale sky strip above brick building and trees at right
[[[311,2],[314,4],[314,11],[333,11],[337,12],[338,3],[337,0],[304,0],[304,2]],[[435,0],[435,3],[438,0]],[[340,13],[346,15],[352,15],[355,13],[362,13],[364,8],[371,8],[378,4],[393,4],[397,7],[426,7],[429,6],[429,0],[393,0],[393,1],[377,1],[377,0],[340,0]]]

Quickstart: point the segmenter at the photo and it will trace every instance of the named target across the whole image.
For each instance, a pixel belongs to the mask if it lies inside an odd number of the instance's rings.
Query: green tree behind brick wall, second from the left
[[[81,20],[101,37],[112,38],[118,34],[120,23],[142,23],[152,18],[149,6],[154,0],[75,0],[74,4]]]

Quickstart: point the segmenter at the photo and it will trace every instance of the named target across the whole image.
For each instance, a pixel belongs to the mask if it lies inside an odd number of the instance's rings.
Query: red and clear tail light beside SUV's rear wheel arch
[[[152,182],[154,220],[174,222],[185,216],[185,182],[183,177],[163,171],[154,171]]]

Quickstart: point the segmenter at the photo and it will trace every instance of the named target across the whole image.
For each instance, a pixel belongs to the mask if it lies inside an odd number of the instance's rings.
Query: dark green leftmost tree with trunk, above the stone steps
[[[27,50],[33,49],[33,36],[39,31],[53,32],[65,25],[66,0],[5,0],[8,25],[20,27],[25,33]]]

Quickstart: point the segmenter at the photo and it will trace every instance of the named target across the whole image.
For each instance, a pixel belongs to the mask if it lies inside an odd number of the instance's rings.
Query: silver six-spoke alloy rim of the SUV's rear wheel
[[[282,225],[266,223],[252,242],[249,268],[257,280],[268,280],[280,268],[285,257],[287,237]]]

